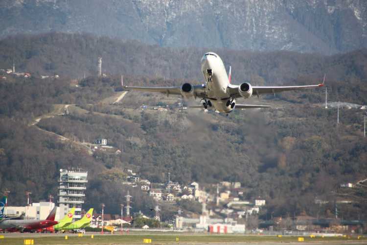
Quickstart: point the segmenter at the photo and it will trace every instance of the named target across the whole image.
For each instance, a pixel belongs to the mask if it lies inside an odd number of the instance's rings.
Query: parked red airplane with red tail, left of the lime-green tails
[[[46,220],[1,220],[0,229],[8,230],[9,232],[27,232],[53,226],[58,223],[57,221],[55,221],[56,209],[57,207],[54,207],[52,209]]]

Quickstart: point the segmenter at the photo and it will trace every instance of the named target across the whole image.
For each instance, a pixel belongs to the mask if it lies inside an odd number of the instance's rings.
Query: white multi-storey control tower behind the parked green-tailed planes
[[[81,219],[82,204],[84,203],[83,197],[85,196],[84,191],[88,182],[87,176],[88,172],[83,172],[80,167],[60,170],[60,186],[58,188],[58,203],[60,206],[59,220],[63,219],[73,207],[75,207],[73,221]]]

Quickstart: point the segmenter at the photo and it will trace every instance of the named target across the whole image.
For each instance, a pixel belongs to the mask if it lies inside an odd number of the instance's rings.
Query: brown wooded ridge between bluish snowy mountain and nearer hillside
[[[360,82],[367,79],[367,49],[323,56],[290,51],[254,52],[249,50],[161,48],[137,41],[97,37],[92,34],[47,33],[17,35],[0,40],[0,69],[33,75],[60,75],[83,78],[98,71],[154,78],[203,80],[201,58],[213,51],[225,67],[232,67],[232,83],[263,77],[265,85],[277,85],[301,75]],[[198,83],[198,82],[197,82]]]

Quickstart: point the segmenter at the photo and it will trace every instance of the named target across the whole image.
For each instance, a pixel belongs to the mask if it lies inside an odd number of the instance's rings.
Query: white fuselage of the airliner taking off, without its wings
[[[232,109],[226,105],[230,99],[230,94],[227,89],[229,78],[222,59],[215,53],[206,53],[201,60],[201,71],[206,80],[206,99],[209,99],[215,109],[220,113],[230,113],[233,111],[234,108]]]

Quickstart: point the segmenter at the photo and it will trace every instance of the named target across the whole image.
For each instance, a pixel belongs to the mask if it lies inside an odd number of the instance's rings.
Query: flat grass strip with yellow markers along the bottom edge
[[[336,242],[341,241],[343,244],[348,244],[352,241],[366,241],[367,239],[361,237],[313,237],[309,236],[243,236],[243,235],[198,235],[198,234],[172,234],[172,235],[92,235],[84,234],[83,237],[68,236],[58,234],[57,236],[41,236],[41,237],[22,237],[22,238],[6,238],[0,239],[1,245],[23,245],[25,239],[34,240],[34,245],[117,245],[117,244],[143,244],[144,239],[151,239],[151,244],[227,244],[227,243],[292,243],[298,242],[298,237],[303,237],[303,243],[312,242]]]

